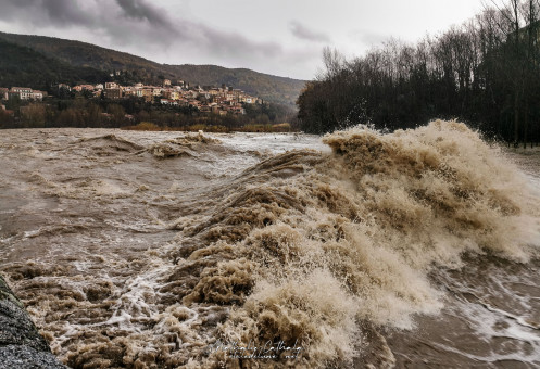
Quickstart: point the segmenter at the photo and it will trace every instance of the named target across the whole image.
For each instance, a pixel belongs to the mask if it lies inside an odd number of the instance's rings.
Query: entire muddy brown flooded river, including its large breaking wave
[[[74,368],[533,368],[539,158],[453,122],[3,130],[0,271]]]

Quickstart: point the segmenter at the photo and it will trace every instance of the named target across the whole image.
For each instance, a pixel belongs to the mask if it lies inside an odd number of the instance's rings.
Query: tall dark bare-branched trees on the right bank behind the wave
[[[457,118],[507,142],[539,142],[540,7],[493,5],[416,44],[392,39],[354,60],[326,49],[325,72],[298,100],[302,129],[393,130]]]

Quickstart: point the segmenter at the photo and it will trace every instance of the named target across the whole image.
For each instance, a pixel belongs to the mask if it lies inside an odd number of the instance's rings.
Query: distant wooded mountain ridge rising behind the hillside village
[[[106,73],[127,71],[129,78],[134,80],[140,79],[141,81],[167,78],[172,80],[181,79],[201,86],[221,86],[225,84],[264,100],[287,105],[294,105],[305,84],[304,80],[277,77],[246,68],[225,68],[216,65],[159,64],[140,56],[91,43],[53,37],[0,33],[1,39],[29,48],[72,67],[93,68]]]

